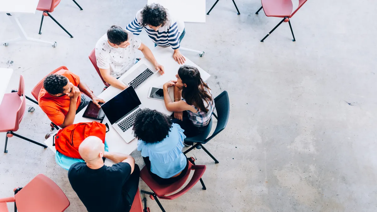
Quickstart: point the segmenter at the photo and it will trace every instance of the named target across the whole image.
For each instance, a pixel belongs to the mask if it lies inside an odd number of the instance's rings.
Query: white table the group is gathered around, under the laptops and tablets
[[[167,115],[171,115],[172,112],[168,111],[165,107],[164,101],[161,100],[155,100],[148,98],[148,92],[150,87],[156,87],[156,88],[162,88],[162,85],[166,83],[169,80],[176,80],[175,75],[178,72],[178,69],[180,66],[172,57],[173,49],[170,47],[161,47],[156,46],[155,48],[151,49],[153,52],[153,55],[155,56],[156,60],[159,64],[164,66],[165,68],[165,74],[160,75],[156,73],[151,78],[149,78],[147,81],[145,81],[143,84],[141,84],[138,89],[136,89],[136,94],[138,95],[141,103],[146,106],[146,108],[149,109],[155,109],[159,112],[162,112]],[[118,80],[122,80],[123,78],[127,77],[131,72],[135,71],[135,69],[141,65],[146,64],[148,67],[153,68],[152,63],[150,63],[146,58],[141,59],[138,63],[136,63],[132,68],[130,68],[126,74],[122,75]],[[205,72],[203,69],[201,69],[199,66],[195,65],[191,60],[186,58],[185,65],[195,66],[199,69],[199,72],[201,74],[201,77],[203,80],[207,80],[210,75]],[[94,71],[94,70],[93,70]],[[81,78],[84,78],[84,76],[81,76]],[[113,86],[110,86],[105,91],[103,91],[100,95],[98,95],[99,98],[102,98],[105,101],[109,101],[111,98],[115,97],[117,94],[121,92],[120,89],[114,88]],[[89,118],[84,118],[83,114],[85,112],[85,109],[82,109],[78,114],[76,114],[74,123],[80,123],[80,122],[92,122],[94,120]],[[134,138],[130,143],[126,143],[126,141],[123,140],[123,138],[118,134],[118,132],[115,131],[115,129],[111,126],[109,121],[107,120],[107,117],[103,120],[103,123],[108,123],[110,127],[110,131],[106,133],[106,142],[109,146],[109,151],[111,152],[121,152],[124,154],[131,154],[137,147],[137,139]],[[52,136],[49,137],[44,143],[54,152],[56,152],[55,147],[52,146]],[[112,164],[112,161],[106,160],[105,164]]]

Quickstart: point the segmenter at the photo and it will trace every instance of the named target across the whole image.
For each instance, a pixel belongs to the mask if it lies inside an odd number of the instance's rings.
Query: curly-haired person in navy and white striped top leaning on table
[[[179,64],[185,63],[186,58],[179,51],[180,43],[185,35],[184,22],[172,17],[163,6],[152,3],[139,10],[133,21],[126,27],[134,35],[139,35],[143,28],[155,46],[171,46],[174,49],[174,60]]]

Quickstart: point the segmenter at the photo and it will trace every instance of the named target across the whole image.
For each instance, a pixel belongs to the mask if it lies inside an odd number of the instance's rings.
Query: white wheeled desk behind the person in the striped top
[[[185,23],[205,23],[205,0],[148,0],[148,5],[156,3],[168,9],[169,14]],[[203,57],[204,51],[180,47],[179,49],[197,52]]]

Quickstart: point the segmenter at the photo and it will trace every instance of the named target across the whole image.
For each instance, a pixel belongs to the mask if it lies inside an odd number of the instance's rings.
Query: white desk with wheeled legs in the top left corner
[[[14,16],[14,14],[35,14],[35,10],[37,9],[39,0],[0,0],[0,13],[8,15],[9,19],[11,20],[14,26],[17,26],[18,34],[20,35],[19,38],[14,38],[11,40],[2,41],[4,46],[8,46],[9,42],[12,41],[34,41],[39,43],[49,43],[53,47],[57,46],[56,42],[38,40],[35,38],[29,38],[26,35],[26,32],[22,28],[18,19]]]

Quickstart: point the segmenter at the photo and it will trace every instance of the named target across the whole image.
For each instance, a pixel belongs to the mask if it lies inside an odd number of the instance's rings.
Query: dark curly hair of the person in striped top
[[[141,26],[164,26],[167,19],[167,9],[159,4],[146,5],[141,11]]]

